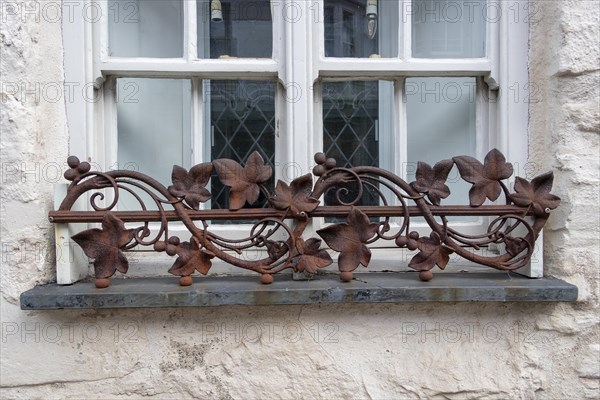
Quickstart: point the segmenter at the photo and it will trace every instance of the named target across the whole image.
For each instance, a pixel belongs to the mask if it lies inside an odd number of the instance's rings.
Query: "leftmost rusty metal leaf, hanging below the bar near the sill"
[[[134,232],[135,229],[125,229],[123,221],[109,212],[102,220],[102,229],[88,229],[72,239],[86,256],[94,259],[96,278],[102,279],[110,278],[116,270],[127,272],[129,262],[122,250],[131,242]]]

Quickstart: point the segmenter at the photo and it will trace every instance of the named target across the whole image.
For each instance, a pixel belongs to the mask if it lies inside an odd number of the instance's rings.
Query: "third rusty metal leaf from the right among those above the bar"
[[[427,197],[433,205],[439,206],[441,199],[450,196],[450,189],[446,186],[446,179],[454,161],[443,160],[431,168],[427,163],[419,161],[417,164],[417,180],[411,182],[411,186],[419,193],[427,193]]]

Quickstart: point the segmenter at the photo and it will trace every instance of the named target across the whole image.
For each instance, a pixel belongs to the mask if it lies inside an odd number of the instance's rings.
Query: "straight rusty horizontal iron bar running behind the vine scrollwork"
[[[350,212],[350,206],[319,206],[309,215],[310,217],[345,217]],[[404,208],[397,206],[362,206],[356,207],[369,217],[401,217]],[[419,207],[407,207],[411,217],[423,216]],[[471,206],[429,206],[435,216],[502,216],[523,215],[525,209],[517,206],[484,205]],[[158,211],[110,211],[123,222],[160,222]],[[54,223],[84,223],[102,222],[106,211],[50,211],[50,222]],[[529,212],[531,214],[531,212]],[[216,210],[189,210],[187,215],[192,220],[260,220],[263,218],[281,218],[283,211],[274,208],[247,208],[237,211]],[[165,211],[168,221],[178,221],[180,218],[175,211]]]

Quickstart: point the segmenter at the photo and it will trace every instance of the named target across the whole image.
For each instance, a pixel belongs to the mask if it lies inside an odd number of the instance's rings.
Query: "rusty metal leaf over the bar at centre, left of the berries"
[[[319,205],[319,200],[311,197],[311,194],[312,176],[306,174],[294,179],[289,186],[281,180],[277,181],[275,195],[269,201],[276,209],[289,209],[294,217],[303,218]]]

